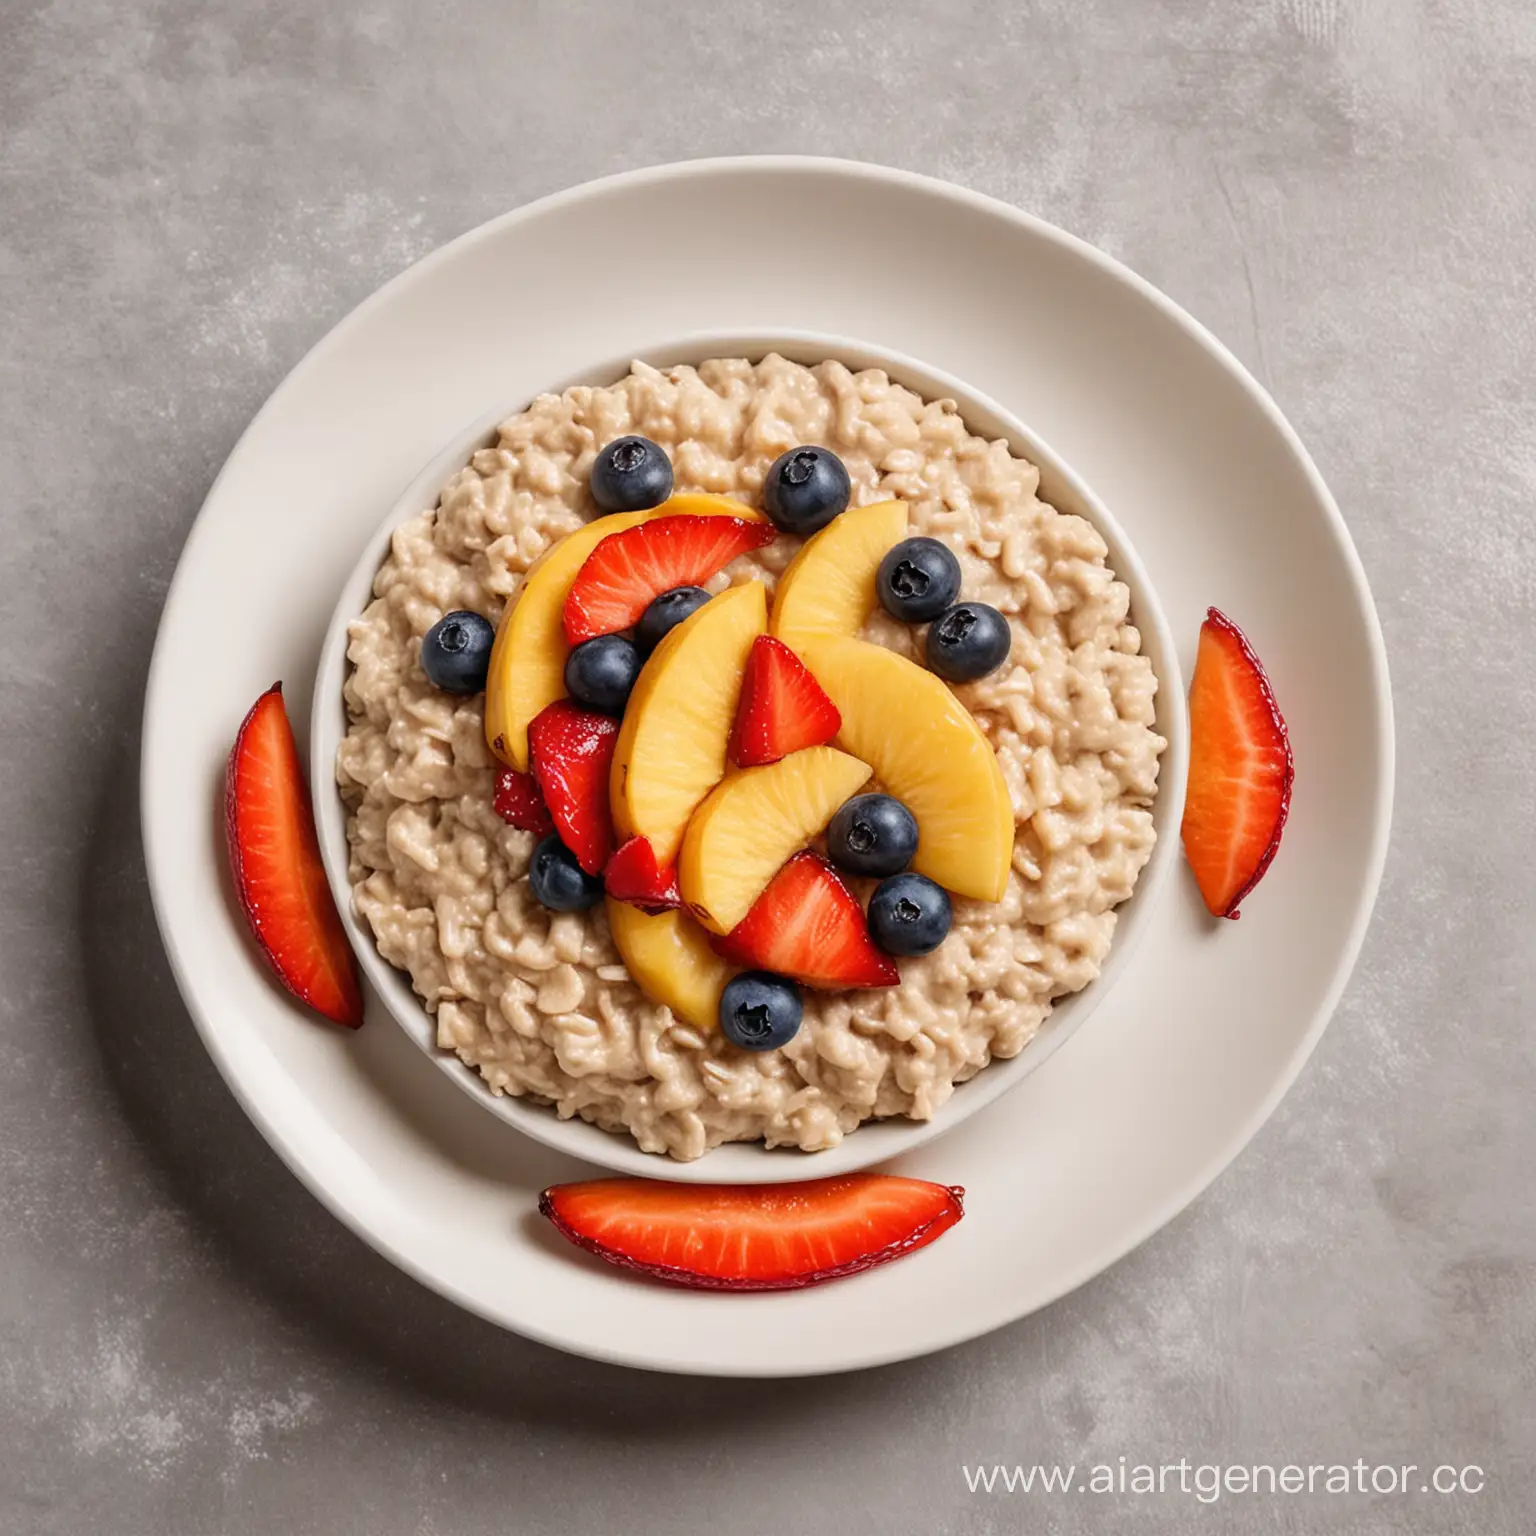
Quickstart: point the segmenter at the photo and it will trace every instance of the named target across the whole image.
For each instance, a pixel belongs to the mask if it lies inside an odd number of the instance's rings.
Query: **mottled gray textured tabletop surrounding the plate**
[[[0,1530],[1530,1531],[1536,9],[630,9],[0,6]],[[1359,542],[1401,766],[1344,1006],[1190,1212],[948,1355],[737,1385],[501,1335],[324,1215],[177,998],[134,765],[183,536],[301,353],[493,214],[746,151],[997,194],[1226,338]],[[1487,1490],[960,1475],[1121,1455]]]

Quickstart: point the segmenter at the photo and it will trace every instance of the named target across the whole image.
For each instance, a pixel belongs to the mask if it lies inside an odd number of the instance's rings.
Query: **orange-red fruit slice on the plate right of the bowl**
[[[1295,765],[1273,690],[1243,631],[1206,611],[1189,690],[1184,856],[1217,917],[1263,879],[1279,848]]]

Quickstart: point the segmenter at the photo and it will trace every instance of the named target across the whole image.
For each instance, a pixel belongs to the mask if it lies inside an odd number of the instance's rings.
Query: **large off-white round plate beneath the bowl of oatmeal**
[[[794,207],[800,244],[765,240]],[[296,722],[335,594],[379,516],[487,402],[697,330],[816,330],[926,358],[1028,421],[1115,510],[1187,673],[1207,604],[1290,720],[1286,845],[1240,923],[1180,874],[1071,1049],[899,1164],[966,1220],[817,1290],[699,1295],[571,1250],[533,1215],[582,1164],[481,1114],[375,1006],[356,1035],[290,1006],[230,905],[224,754],[273,677]],[[369,300],[257,416],[177,570],[149,680],[143,817],[183,994],[263,1134],[425,1284],[581,1353],[716,1375],[848,1370],[1043,1306],[1230,1161],[1316,1043],[1387,843],[1392,705],[1359,561],[1273,402],[1098,252],[975,194],[872,166],[700,161],[578,187],[444,247]]]

